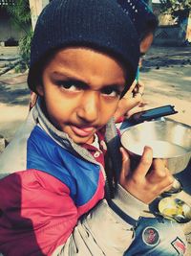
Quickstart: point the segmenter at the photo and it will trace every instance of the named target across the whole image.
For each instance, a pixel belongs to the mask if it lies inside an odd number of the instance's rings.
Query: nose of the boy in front
[[[93,123],[98,118],[98,111],[98,92],[84,92],[80,105],[77,109],[77,116],[87,123]]]

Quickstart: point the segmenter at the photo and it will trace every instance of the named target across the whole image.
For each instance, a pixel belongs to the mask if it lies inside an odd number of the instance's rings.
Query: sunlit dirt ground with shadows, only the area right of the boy
[[[175,105],[170,118],[191,126],[191,47],[152,47],[141,78],[149,106]]]

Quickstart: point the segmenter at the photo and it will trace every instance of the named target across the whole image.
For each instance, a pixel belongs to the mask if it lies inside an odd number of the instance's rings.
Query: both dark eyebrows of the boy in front
[[[53,72],[53,79],[58,79],[58,80],[71,80],[71,81],[74,81],[74,82],[77,82],[77,83],[80,83],[82,86],[87,86],[87,87],[90,87],[89,83],[86,82],[86,81],[83,81],[81,79],[78,79],[76,77],[73,77],[72,75],[70,74],[62,74],[62,73],[59,73],[57,71],[54,71]],[[125,83],[124,84],[121,84],[119,82],[116,82],[116,83],[111,83],[111,84],[105,84],[105,86],[110,86],[110,87],[117,87],[117,86],[120,86],[121,87],[121,91],[124,89],[125,87]]]

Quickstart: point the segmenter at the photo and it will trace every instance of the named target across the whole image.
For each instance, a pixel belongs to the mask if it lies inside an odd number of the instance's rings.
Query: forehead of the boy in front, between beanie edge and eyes
[[[59,49],[46,66],[54,79],[71,79],[87,84],[124,85],[125,69],[116,58],[87,47]]]

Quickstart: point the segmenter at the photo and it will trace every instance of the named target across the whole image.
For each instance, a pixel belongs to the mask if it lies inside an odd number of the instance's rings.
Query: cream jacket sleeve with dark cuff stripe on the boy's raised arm
[[[136,225],[141,211],[147,206],[120,186],[116,198],[109,204],[106,199],[101,200],[78,221],[66,244],[57,247],[53,256],[123,255],[134,240],[133,222]]]

